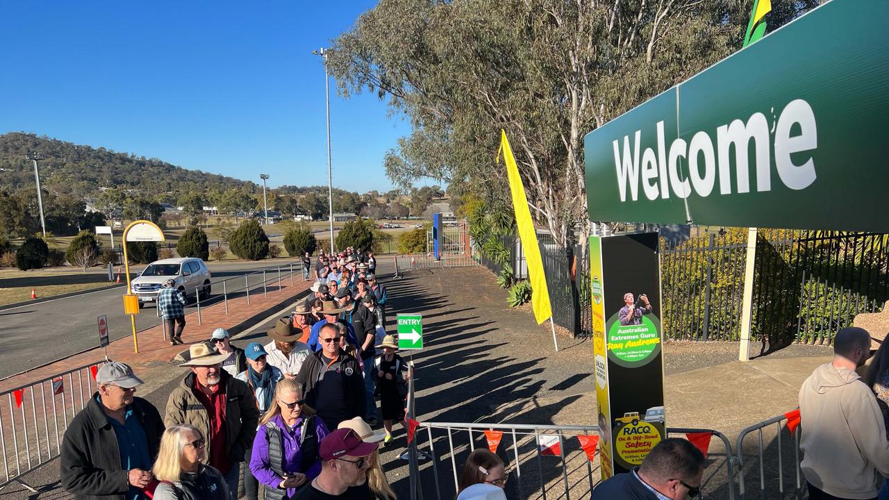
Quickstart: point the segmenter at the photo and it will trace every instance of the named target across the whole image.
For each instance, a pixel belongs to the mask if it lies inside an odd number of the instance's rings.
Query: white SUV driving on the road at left
[[[138,277],[132,280],[132,293],[139,297],[139,307],[146,302],[157,302],[157,294],[167,279],[185,293],[186,300],[199,294],[201,300],[210,298],[210,270],[201,259],[164,259],[148,264]]]

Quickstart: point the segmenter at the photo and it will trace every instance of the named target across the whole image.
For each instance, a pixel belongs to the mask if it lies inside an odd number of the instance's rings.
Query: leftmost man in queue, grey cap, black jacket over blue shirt
[[[106,363],[96,383],[99,390],[65,431],[62,488],[75,498],[145,498],[164,422],[151,403],[133,396],[142,381],[128,365]]]

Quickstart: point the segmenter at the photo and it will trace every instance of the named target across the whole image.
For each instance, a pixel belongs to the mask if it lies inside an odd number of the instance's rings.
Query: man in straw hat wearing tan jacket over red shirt
[[[260,410],[247,384],[222,369],[226,358],[208,343],[188,348],[188,361],[180,367],[190,368],[190,373],[170,394],[164,423],[188,423],[201,431],[208,463],[222,473],[236,500],[241,463],[253,445]]]

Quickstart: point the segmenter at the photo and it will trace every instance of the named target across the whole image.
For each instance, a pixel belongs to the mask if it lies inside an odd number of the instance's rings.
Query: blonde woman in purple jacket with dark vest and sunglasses
[[[303,402],[299,385],[288,379],[278,382],[275,401],[256,431],[250,471],[266,500],[293,496],[321,472],[318,443],[327,427]]]

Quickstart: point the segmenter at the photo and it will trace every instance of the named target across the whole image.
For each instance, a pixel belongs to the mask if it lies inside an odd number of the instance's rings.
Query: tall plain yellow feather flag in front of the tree
[[[531,305],[534,309],[534,319],[540,325],[552,317],[552,309],[549,305],[549,289],[547,277],[543,273],[543,260],[541,259],[541,247],[537,245],[537,233],[534,232],[534,223],[531,221],[531,210],[528,208],[528,198],[525,198],[525,187],[522,178],[518,176],[516,157],[512,156],[506,132],[501,130],[501,152],[506,163],[506,173],[509,176],[509,190],[512,192],[512,206],[516,211],[516,225],[518,237],[522,240],[522,248],[525,249],[525,262],[528,265],[528,278],[531,279]],[[500,153],[497,155],[497,163],[500,163]]]

